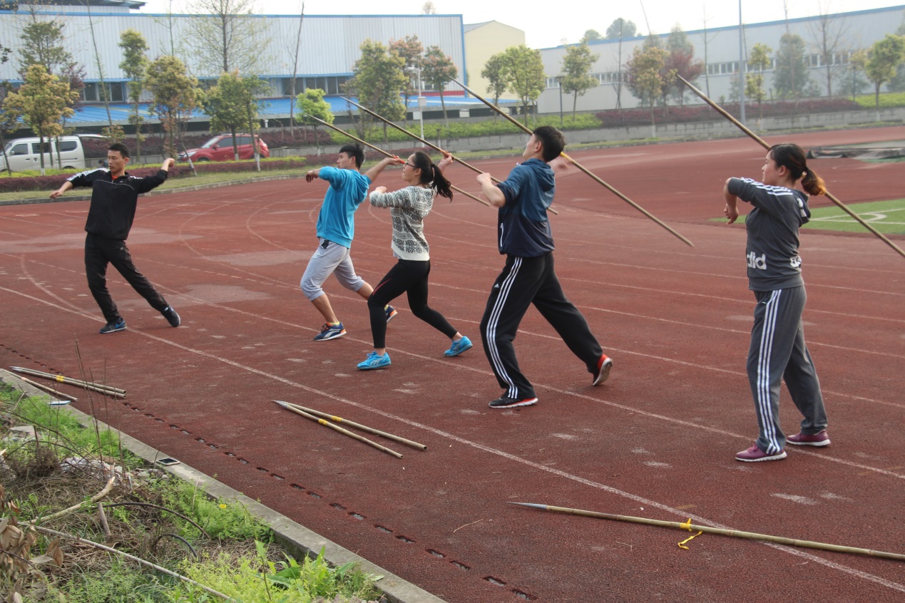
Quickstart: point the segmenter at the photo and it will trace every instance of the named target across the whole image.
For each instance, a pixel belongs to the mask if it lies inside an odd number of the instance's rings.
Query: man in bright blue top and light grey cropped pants
[[[346,328],[334,314],[329,297],[323,289],[324,281],[331,274],[336,275],[343,287],[355,291],[365,299],[374,290],[355,273],[355,267],[352,266],[355,211],[365,201],[367,187],[376,180],[377,175],[399,159],[386,157],[366,174],[361,174],[359,169],[364,160],[365,152],[360,146],[346,145],[339,149],[336,167],[325,165],[305,174],[306,182],[320,178],[330,184],[318,214],[318,249],[311,256],[300,283],[302,293],[318,309],[326,323],[321,327],[320,333],[314,336],[314,341],[329,341],[346,334]],[[386,323],[395,315],[396,311],[392,306],[384,308]]]

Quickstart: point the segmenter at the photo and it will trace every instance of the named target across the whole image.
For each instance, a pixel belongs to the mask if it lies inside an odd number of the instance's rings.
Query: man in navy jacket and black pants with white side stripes
[[[538,397],[519,371],[512,340],[522,316],[534,304],[593,375],[592,384],[605,382],[613,361],[597,343],[585,316],[570,302],[553,269],[553,234],[547,208],[553,203],[556,180],[549,162],[566,146],[555,127],[538,127],[531,135],[524,163],[516,165],[505,182],[493,184],[491,174],[479,174],[487,200],[499,207],[497,242],[506,265],[497,277],[481,318],[484,353],[493,373],[506,391],[491,408],[530,406]]]

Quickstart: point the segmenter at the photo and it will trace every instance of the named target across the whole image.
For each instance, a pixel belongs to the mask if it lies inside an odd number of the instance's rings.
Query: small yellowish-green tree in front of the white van
[[[44,138],[58,137],[63,132],[62,118],[71,117],[74,111],[69,107],[79,93],[70,88],[69,82],[61,80],[42,65],[32,65],[25,72],[22,86],[16,92],[6,95],[4,106],[7,110],[24,118],[40,139],[44,148]],[[44,154],[41,153],[41,175],[44,175]]]

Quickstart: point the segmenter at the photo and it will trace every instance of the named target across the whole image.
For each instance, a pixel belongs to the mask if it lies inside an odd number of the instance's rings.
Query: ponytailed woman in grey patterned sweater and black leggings
[[[452,189],[442,171],[442,166],[450,162],[452,157],[447,155],[440,165],[434,165],[430,156],[417,151],[405,161],[402,168],[402,179],[408,186],[393,193],[387,193],[386,186],[378,186],[370,195],[371,205],[390,208],[390,215],[393,217],[393,255],[398,261],[367,299],[374,352],[367,354],[364,362],[358,363],[358,368],[362,371],[382,369],[390,365],[390,355],[386,353],[384,306],[403,293],[408,296],[408,306],[414,316],[452,340],[450,349],[443,352],[444,356],[458,356],[472,347],[468,337],[462,336],[442,314],[427,305],[427,277],[431,272],[431,257],[424,238],[424,217],[431,212],[433,199],[438,194],[452,201]]]

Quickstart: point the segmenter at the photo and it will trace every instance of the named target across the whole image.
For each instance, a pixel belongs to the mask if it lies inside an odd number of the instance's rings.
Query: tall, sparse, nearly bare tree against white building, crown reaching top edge
[[[260,73],[271,60],[253,0],[194,0],[192,8],[204,15],[188,20],[186,36],[202,73]]]

